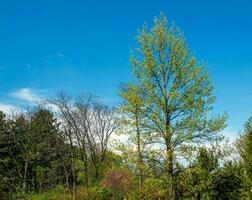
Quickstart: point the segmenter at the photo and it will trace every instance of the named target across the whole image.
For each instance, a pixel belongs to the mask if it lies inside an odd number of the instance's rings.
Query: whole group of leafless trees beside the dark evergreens
[[[117,127],[114,109],[90,93],[83,93],[78,98],[71,99],[62,92],[48,102],[58,109],[62,128],[71,147],[72,176],[76,176],[74,159],[77,152],[74,147],[78,146],[84,165],[84,184],[88,187],[90,181],[96,182],[99,178],[99,169],[106,160],[109,138]],[[90,178],[92,172],[94,179]],[[75,182],[73,178],[73,189]]]

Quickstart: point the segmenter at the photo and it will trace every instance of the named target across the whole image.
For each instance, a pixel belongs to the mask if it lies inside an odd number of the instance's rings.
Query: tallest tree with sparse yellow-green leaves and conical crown
[[[137,36],[139,48],[131,56],[135,87],[144,92],[148,127],[163,147],[167,197],[175,199],[175,161],[194,143],[216,139],[225,126],[224,115],[209,117],[215,97],[203,64],[190,54],[183,34],[167,27],[164,15],[144,25]]]

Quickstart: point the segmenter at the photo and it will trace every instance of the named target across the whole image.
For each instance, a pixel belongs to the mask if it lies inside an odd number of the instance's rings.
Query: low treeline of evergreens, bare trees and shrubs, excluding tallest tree
[[[158,148],[145,152],[139,173],[133,142],[127,148],[112,142],[112,133],[125,128],[114,108],[87,94],[73,101],[61,93],[49,102],[53,111],[37,106],[0,112],[1,199],[55,188],[63,194],[59,199],[167,199]],[[252,118],[234,145],[239,154],[227,161],[230,152],[213,145],[194,149],[187,163],[177,162],[175,198],[251,199]]]

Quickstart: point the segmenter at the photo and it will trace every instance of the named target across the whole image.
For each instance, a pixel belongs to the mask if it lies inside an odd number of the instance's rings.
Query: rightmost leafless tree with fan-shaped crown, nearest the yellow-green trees
[[[92,94],[82,94],[75,103],[78,120],[79,139],[88,147],[94,167],[94,180],[99,178],[99,167],[106,159],[109,139],[117,128],[114,109],[103,104]]]

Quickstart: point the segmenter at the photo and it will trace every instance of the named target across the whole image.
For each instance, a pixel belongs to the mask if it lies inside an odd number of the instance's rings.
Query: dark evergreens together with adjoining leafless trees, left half
[[[120,157],[108,151],[118,126],[114,109],[91,94],[72,101],[61,93],[38,106],[6,116],[0,113],[2,196],[47,191],[64,186],[75,198],[76,185],[101,181]]]

